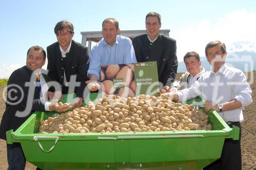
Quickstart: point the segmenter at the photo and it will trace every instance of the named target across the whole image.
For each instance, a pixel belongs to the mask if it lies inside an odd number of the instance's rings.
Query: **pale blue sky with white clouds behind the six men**
[[[0,79],[26,65],[30,46],[46,50],[54,43],[54,27],[60,20],[73,23],[73,39],[81,42],[80,32],[101,31],[105,18],[116,18],[120,30],[145,30],[146,14],[158,12],[161,29],[170,30],[169,36],[177,40],[177,57],[182,61],[189,51],[204,56],[205,45],[212,40],[227,46],[236,41],[256,43],[255,7],[254,0],[0,0]]]

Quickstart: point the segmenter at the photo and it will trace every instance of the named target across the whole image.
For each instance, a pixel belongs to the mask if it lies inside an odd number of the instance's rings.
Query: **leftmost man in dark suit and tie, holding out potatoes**
[[[40,46],[32,46],[27,53],[26,66],[12,72],[7,84],[6,110],[0,124],[0,138],[6,140],[6,132],[17,130],[34,111],[67,111],[71,107],[46,102],[49,78],[42,74],[46,52]],[[46,93],[48,95],[46,95]],[[8,169],[25,169],[26,158],[20,143],[7,144]]]

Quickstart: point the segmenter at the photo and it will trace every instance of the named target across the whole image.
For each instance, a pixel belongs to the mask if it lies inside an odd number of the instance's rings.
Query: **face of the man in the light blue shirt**
[[[108,21],[103,23],[102,34],[103,38],[110,46],[113,46],[116,42],[116,36],[120,30],[116,28],[114,21]]]

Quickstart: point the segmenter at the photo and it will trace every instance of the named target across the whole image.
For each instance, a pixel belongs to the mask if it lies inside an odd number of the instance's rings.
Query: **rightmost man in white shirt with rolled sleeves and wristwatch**
[[[241,125],[242,109],[252,103],[251,88],[243,71],[225,65],[226,46],[220,41],[211,41],[205,47],[205,54],[212,66],[190,88],[168,93],[174,101],[186,100],[202,95],[206,111],[215,109],[229,127],[240,128],[239,140],[225,139],[221,158],[212,162],[205,169],[242,169]]]

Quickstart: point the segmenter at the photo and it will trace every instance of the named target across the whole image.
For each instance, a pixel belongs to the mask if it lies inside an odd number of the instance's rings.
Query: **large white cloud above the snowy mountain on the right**
[[[232,11],[216,20],[202,20],[181,30],[177,36],[177,56],[182,61],[185,53],[196,51],[205,56],[205,45],[212,40],[224,42],[228,48],[235,41],[256,42],[256,14],[245,9]]]

